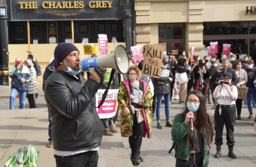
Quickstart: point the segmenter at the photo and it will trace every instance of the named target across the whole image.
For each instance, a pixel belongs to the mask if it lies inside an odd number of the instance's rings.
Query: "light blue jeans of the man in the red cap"
[[[14,109],[14,101],[18,93],[19,93],[19,109],[25,108],[25,100],[26,100],[27,92],[12,88],[11,96],[10,96],[10,109]]]

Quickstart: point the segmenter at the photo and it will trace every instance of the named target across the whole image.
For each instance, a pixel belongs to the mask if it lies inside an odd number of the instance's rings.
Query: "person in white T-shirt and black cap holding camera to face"
[[[222,133],[224,124],[227,131],[227,145],[229,147],[229,153],[227,156],[230,158],[237,158],[233,153],[233,146],[235,145],[234,139],[234,125],[235,125],[235,100],[237,99],[238,92],[237,87],[231,85],[233,76],[230,72],[223,74],[223,79],[218,81],[219,85],[213,92],[213,98],[217,99],[217,106],[214,112],[215,121],[215,143],[217,153],[214,155],[215,158],[221,156],[221,145]]]

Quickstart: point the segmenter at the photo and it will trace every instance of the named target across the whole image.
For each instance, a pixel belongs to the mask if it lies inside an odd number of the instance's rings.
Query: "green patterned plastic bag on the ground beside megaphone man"
[[[32,145],[19,148],[5,162],[6,167],[38,167],[40,150]]]

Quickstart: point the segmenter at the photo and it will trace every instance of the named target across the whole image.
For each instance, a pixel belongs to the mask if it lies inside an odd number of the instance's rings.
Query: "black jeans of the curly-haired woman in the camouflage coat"
[[[129,144],[132,150],[138,150],[138,152],[141,149],[142,144],[142,135],[145,129],[145,122],[142,121],[141,123],[137,122],[137,116],[136,112],[133,114],[133,135],[129,136]]]

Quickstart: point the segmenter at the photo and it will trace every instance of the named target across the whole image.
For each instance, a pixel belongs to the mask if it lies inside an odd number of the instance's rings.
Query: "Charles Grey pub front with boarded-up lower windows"
[[[15,58],[25,60],[29,53],[44,72],[61,42],[75,44],[81,58],[90,56],[83,54],[83,43],[98,45],[98,34],[107,35],[109,53],[117,44],[133,44],[132,1],[1,0],[0,9],[0,85],[9,85]]]

